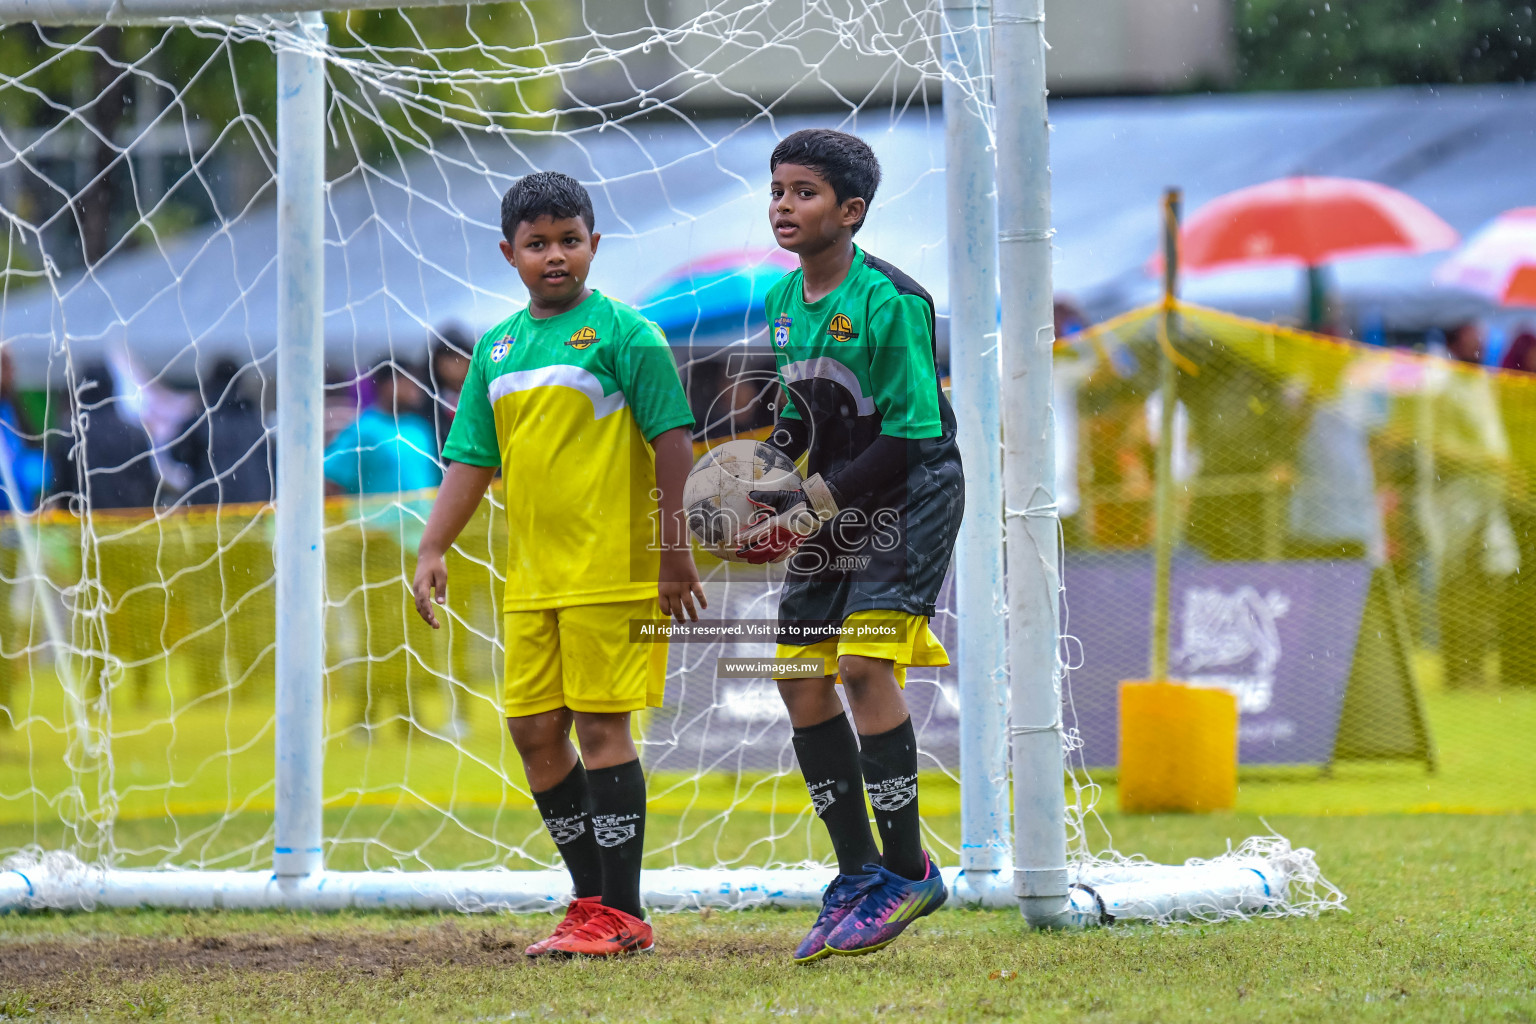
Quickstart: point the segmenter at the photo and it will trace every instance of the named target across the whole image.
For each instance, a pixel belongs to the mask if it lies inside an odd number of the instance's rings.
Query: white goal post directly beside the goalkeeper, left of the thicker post
[[[949,236],[949,381],[966,516],[955,543],[960,680],[960,870],[1000,872],[1008,835],[1008,631],[1003,619],[1003,448],[998,430],[997,181],[988,0],[946,0],[945,189]],[[991,880],[988,880],[991,881]],[[978,883],[982,884],[982,883]],[[989,884],[986,887],[991,887]]]

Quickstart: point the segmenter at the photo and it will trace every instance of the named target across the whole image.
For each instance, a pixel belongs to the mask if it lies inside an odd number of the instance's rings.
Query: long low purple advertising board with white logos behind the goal
[[[1364,609],[1364,562],[1175,560],[1170,674],[1232,689],[1240,761],[1318,765],[1330,758]],[[934,631],[955,656],[952,577]],[[1068,728],[1089,766],[1118,760],[1118,686],[1146,679],[1152,560],[1069,556],[1063,651],[1071,665]],[[770,619],[773,588],[737,577],[708,586],[710,616]],[[720,657],[770,657],[771,643],[674,643],[667,703],[647,715],[647,766],[660,771],[794,771],[790,722],[773,682],[719,679]],[[906,699],[923,768],[958,766],[955,668],[914,669]]]

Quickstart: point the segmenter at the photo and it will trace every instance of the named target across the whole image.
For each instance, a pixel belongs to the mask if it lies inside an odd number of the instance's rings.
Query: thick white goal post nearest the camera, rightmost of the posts
[[[1060,567],[1051,347],[1051,163],[1044,0],[995,0],[1003,490],[1014,751],[1014,894],[1037,927],[1068,913]]]

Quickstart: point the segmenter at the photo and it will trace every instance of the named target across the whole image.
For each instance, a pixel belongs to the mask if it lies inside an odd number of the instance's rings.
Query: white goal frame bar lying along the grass
[[[69,858],[74,860],[74,858]],[[817,907],[829,867],[697,869],[641,874],[653,910]],[[1057,927],[1114,921],[1221,920],[1283,909],[1290,858],[1215,864],[1089,864],[1072,872]],[[951,907],[1017,907],[1012,872],[943,872]],[[253,870],[123,870],[48,860],[0,870],[0,913],[157,907],[174,910],[548,912],[570,900],[564,870],[321,870],[283,878]]]

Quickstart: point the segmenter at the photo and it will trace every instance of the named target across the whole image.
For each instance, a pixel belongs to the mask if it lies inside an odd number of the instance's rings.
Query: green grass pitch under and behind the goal
[[[34,686],[18,702],[34,717],[0,737],[0,849],[89,838],[43,797],[77,785],[89,808],[98,780],[66,768],[57,689]],[[659,915],[654,955],[602,964],[525,963],[545,917],[9,915],[0,1021],[1536,1021],[1536,694],[1432,685],[1425,700],[1435,774],[1247,772],[1238,809],[1204,817],[1118,815],[1104,786],[1101,824],[1124,852],[1178,863],[1270,827],[1315,849],[1349,897],[1316,920],[1048,935],[1012,912],[945,910],[883,953],[796,967],[809,912]],[[430,695],[418,708],[429,728],[441,718]],[[333,718],[327,746],[329,866],[553,858],[527,798],[499,785],[519,780],[499,731],[455,752],[346,725]],[[121,863],[270,863],[269,705],[187,705],[178,683],[114,708],[112,731]],[[653,778],[651,792],[648,866],[828,854],[793,768]],[[226,815],[230,801],[244,809]],[[952,849],[952,780],[926,777],[923,801]]]

